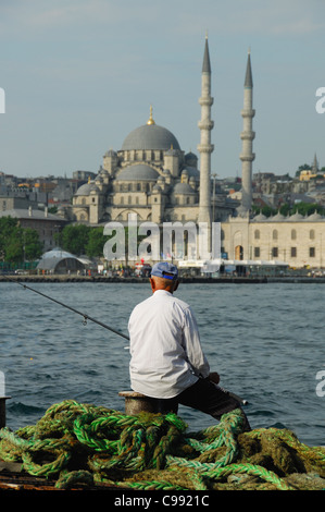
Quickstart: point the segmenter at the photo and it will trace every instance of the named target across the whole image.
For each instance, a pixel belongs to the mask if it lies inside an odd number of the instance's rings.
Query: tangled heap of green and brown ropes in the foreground
[[[173,413],[128,416],[67,400],[49,407],[34,426],[0,429],[0,459],[21,462],[26,473],[55,480],[60,489],[245,488],[240,475],[246,475],[260,486],[290,490],[299,488],[290,481],[297,467],[317,473],[325,488],[325,449],[307,447],[286,429],[242,432],[242,426],[239,409],[224,414],[218,425],[187,434]],[[274,447],[274,453],[263,447]]]

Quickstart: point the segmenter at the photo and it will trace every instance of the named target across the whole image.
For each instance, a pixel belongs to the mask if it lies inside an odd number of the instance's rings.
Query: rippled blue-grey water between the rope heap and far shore
[[[127,334],[146,283],[26,283]],[[249,403],[252,428],[286,427],[300,441],[325,446],[324,284],[183,284],[201,342],[221,386]],[[124,411],[129,389],[128,341],[14,282],[0,283],[0,371],[7,426],[35,425],[53,403],[73,399]],[[212,425],[179,407],[189,430]]]

